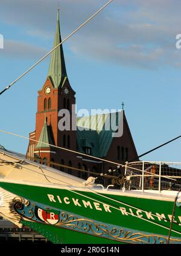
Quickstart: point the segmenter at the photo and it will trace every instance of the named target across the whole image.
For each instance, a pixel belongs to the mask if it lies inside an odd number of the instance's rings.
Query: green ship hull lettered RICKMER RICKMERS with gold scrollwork
[[[174,200],[167,197],[52,185],[0,186],[30,201],[19,208],[14,204],[21,223],[52,243],[168,243]],[[180,221],[176,206],[170,243],[181,243]]]

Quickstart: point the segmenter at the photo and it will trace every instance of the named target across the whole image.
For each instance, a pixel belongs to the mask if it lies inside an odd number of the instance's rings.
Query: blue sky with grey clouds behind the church
[[[0,90],[52,49],[60,5],[62,39],[106,0],[0,0]],[[180,131],[180,0],[114,0],[63,44],[77,109],[122,109],[138,155]],[[0,96],[0,130],[27,136],[35,129],[37,91],[49,58]],[[0,144],[25,153],[28,141],[0,132]],[[181,140],[141,160],[180,161]]]

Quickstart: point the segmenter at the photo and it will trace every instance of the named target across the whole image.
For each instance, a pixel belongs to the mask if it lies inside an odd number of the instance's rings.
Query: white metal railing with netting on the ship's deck
[[[179,190],[181,163],[139,161],[125,166],[125,189]]]

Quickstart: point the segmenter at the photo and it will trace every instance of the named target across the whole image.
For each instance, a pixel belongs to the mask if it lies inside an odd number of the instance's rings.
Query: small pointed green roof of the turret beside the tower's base
[[[36,148],[40,148],[40,147],[49,148],[50,146],[48,146],[48,144],[53,144],[53,143],[52,143],[49,127],[47,126],[46,120],[45,120],[45,123],[43,124],[43,127],[42,127],[42,132],[40,133],[39,142],[37,143]]]

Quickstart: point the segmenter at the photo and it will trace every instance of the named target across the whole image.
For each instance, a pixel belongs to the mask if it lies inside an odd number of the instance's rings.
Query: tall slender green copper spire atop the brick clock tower
[[[60,21],[59,21],[59,10],[58,10],[56,35],[54,37],[53,47],[56,47],[58,44],[60,44],[60,42],[62,42],[62,39],[60,35]],[[66,75],[65,59],[63,55],[62,44],[51,53],[48,76],[51,78],[52,84],[55,88],[58,88],[59,86],[63,87],[63,84],[65,83],[65,79],[67,78],[67,75]]]

